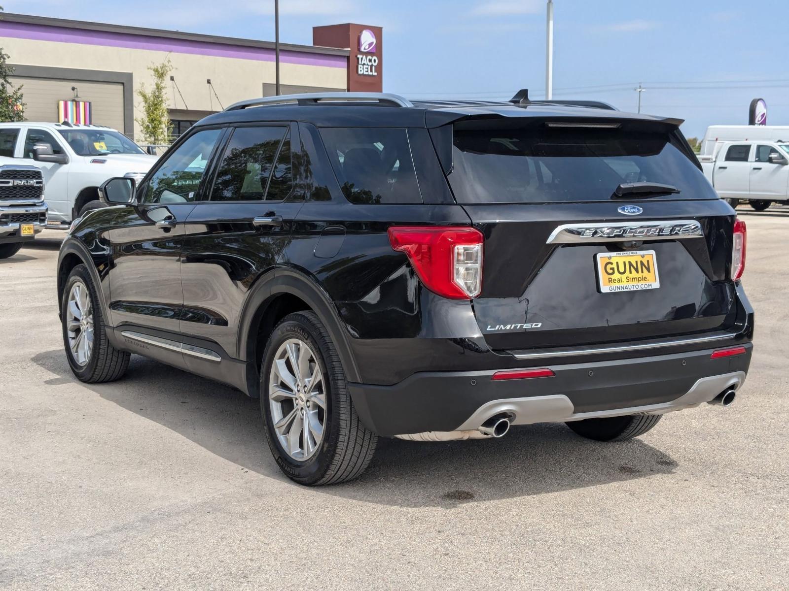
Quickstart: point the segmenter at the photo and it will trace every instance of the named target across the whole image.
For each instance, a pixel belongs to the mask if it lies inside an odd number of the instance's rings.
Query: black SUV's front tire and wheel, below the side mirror
[[[80,301],[77,306],[80,318],[85,317],[87,307],[88,316],[92,322],[82,324],[80,328],[74,329],[69,333],[69,319],[76,318],[76,314],[69,312],[69,299],[75,289],[80,287]],[[84,290],[84,293],[81,291]],[[86,321],[87,322],[87,321]],[[104,381],[114,381],[122,377],[129,366],[129,357],[126,351],[118,351],[110,344],[107,339],[107,324],[104,322],[104,313],[99,304],[99,296],[96,293],[95,284],[88,273],[88,268],[84,265],[77,265],[69,273],[69,278],[65,281],[63,299],[61,302],[61,324],[63,331],[63,347],[65,348],[66,359],[69,360],[69,367],[77,379],[88,384],[96,384]],[[92,325],[92,345],[88,348],[73,350],[73,344],[80,334],[82,338],[88,338],[90,325]],[[84,354],[84,355],[83,355]]]

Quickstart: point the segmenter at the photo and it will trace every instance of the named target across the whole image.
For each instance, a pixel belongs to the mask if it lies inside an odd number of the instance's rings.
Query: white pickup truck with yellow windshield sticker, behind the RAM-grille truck
[[[121,132],[98,125],[0,123],[0,165],[33,165],[43,173],[48,226],[68,229],[103,206],[96,189],[112,177],[142,177],[156,162]]]

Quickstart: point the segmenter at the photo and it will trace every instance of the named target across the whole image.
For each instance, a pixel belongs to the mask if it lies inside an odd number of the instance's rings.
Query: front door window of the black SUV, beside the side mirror
[[[181,143],[148,180],[143,203],[194,201],[211,150],[221,133],[221,129],[206,129]]]

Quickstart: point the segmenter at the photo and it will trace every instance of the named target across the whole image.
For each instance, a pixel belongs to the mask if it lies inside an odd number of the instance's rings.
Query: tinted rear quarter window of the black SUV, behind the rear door
[[[353,203],[422,203],[406,129],[320,130],[342,192]]]

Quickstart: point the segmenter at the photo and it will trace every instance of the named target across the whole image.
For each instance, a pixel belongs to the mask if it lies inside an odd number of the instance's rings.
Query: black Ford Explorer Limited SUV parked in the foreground
[[[680,123],[524,92],[241,102],[73,224],[69,364],[110,381],[136,353],[260,397],[307,485],[361,474],[378,436],[623,440],[726,406],[746,231]]]

